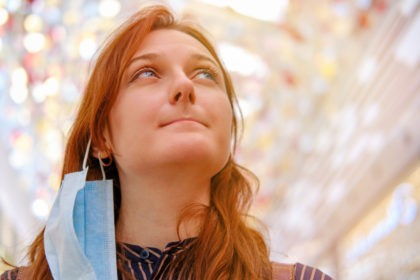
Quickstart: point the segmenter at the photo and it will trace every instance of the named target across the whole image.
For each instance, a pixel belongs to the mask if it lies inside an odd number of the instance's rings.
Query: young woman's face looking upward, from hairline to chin
[[[210,52],[185,33],[156,30],[125,71],[109,116],[119,171],[189,166],[215,175],[230,154],[232,110]]]

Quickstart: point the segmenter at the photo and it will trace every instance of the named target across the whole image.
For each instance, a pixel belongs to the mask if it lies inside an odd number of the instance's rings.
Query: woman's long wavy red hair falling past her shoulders
[[[175,20],[164,6],[142,9],[108,38],[96,58],[70,132],[62,176],[81,170],[89,138],[92,139],[92,146],[99,151],[107,149],[103,132],[108,125],[108,116],[123,73],[143,38],[149,32],[163,28],[184,32],[209,50],[222,69],[226,92],[235,111],[237,100],[229,74],[203,32],[192,24]],[[233,143],[236,144],[238,120],[235,114],[232,123]],[[88,179],[100,179],[98,160],[92,154],[89,155],[88,165]],[[121,203],[118,172],[113,163],[105,171],[107,178],[114,180],[117,219]],[[247,213],[257,188],[256,177],[230,157],[223,169],[212,178],[210,205],[200,209],[203,226],[196,241],[188,249],[188,254],[182,254],[171,267],[179,273],[180,279],[271,279],[269,253],[264,238],[258,230],[247,224]],[[178,225],[197,214],[193,213],[193,209],[183,213]],[[29,249],[31,279],[52,279],[44,252],[43,232]]]

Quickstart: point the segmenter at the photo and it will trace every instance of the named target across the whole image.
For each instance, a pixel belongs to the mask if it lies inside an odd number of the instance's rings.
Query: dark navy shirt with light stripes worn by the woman
[[[162,250],[138,245],[117,243],[117,261],[123,272],[118,272],[119,280],[177,280],[177,275],[169,272],[170,264],[176,257],[188,250],[193,238],[170,242]],[[293,265],[272,263],[273,280],[331,280],[320,270],[300,263]],[[27,280],[22,277],[25,267],[6,271],[0,280]]]

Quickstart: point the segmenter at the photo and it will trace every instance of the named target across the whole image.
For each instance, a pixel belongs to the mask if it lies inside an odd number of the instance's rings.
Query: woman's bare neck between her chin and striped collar
[[[210,178],[182,175],[185,176],[120,174],[118,241],[163,249],[168,242],[197,236],[200,221],[183,221],[178,232],[179,215],[191,204],[209,204]]]

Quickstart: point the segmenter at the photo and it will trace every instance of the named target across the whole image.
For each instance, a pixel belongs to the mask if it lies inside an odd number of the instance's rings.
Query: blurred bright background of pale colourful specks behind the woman
[[[273,260],[420,279],[417,0],[0,0],[0,256],[25,263],[90,60],[147,3],[198,21],[233,75]]]

